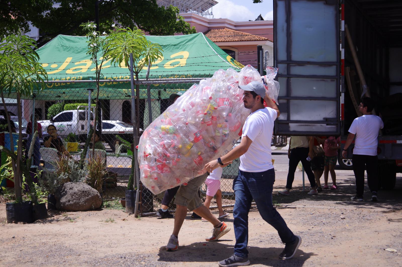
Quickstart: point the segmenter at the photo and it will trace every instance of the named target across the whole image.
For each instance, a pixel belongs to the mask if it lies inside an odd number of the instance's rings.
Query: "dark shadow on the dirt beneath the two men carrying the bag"
[[[234,241],[233,241],[234,244]],[[284,245],[283,245],[284,246]],[[269,265],[269,266],[303,266],[304,262],[314,253],[305,253],[298,249],[293,259],[279,259],[279,254],[283,247],[248,247],[250,263]],[[233,254],[233,245],[227,245],[219,242],[201,242],[192,243],[186,246],[180,246],[178,251],[168,252],[165,247],[159,249],[159,259],[162,262],[204,262],[217,263],[230,257]],[[174,265],[174,264],[172,264]]]

